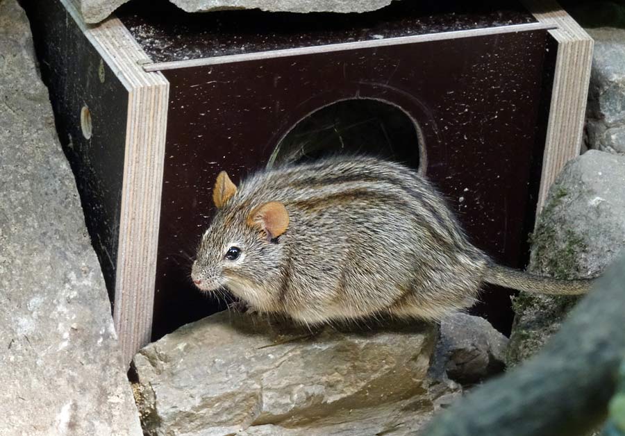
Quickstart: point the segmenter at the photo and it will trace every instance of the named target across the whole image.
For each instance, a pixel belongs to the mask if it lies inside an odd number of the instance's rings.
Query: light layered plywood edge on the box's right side
[[[557,27],[549,31],[558,42],[558,54],[536,210],[539,213],[556,176],[580,153],[594,40],[556,1],[524,3],[538,21]]]

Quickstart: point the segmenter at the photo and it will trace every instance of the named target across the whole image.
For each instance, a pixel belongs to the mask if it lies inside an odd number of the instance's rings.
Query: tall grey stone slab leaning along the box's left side
[[[142,434],[15,0],[0,0],[0,350],[0,435]]]

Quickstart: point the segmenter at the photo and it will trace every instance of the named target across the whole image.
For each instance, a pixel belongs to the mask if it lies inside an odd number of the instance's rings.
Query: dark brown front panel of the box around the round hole
[[[472,241],[524,267],[551,87],[548,40],[526,31],[164,71],[171,90],[153,337],[223,308],[188,278],[217,173],[237,182],[263,167],[293,126],[341,100],[387,102],[415,120],[424,172]],[[508,294],[484,299],[478,310],[507,330]]]

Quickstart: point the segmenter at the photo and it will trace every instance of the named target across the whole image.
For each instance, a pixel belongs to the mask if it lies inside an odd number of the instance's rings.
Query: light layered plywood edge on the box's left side
[[[119,19],[88,26],[72,0],[60,1],[128,90],[113,319],[129,364],[151,336],[169,82],[144,72],[151,60]]]

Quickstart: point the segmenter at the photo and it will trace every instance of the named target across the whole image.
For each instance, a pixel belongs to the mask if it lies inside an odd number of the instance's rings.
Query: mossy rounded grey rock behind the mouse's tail
[[[587,151],[566,165],[549,191],[532,237],[529,269],[557,278],[597,276],[624,249],[625,156]],[[575,296],[518,296],[508,364],[542,348],[577,301]]]

